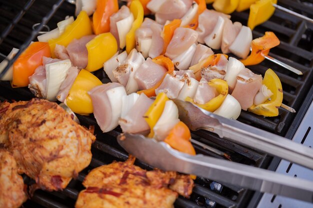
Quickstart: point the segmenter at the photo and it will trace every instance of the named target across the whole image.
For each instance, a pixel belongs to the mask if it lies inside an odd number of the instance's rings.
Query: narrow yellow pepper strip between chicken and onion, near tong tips
[[[150,127],[150,133],[148,135],[149,138],[153,138],[154,132],[153,127],[155,126],[156,122],[162,115],[165,102],[169,100],[164,92],[159,93],[152,105],[149,107],[149,109],[144,114],[144,120]]]

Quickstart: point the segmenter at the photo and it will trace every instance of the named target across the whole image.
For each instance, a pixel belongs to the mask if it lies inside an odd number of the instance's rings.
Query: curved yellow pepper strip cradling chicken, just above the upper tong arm
[[[211,79],[208,82],[208,85],[214,87],[219,95],[217,95],[205,104],[197,104],[190,97],[186,97],[185,101],[191,102],[209,112],[215,111],[223,103],[226,95],[228,94],[228,84],[225,80],[222,79]]]

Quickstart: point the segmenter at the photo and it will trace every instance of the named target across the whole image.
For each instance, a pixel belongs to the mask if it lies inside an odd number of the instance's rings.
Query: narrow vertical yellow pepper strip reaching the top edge
[[[131,29],[126,34],[126,52],[128,54],[133,48],[135,48],[136,45],[135,31],[140,27],[143,21],[143,6],[139,0],[133,0],[130,3],[129,9],[135,20],[132,22]]]

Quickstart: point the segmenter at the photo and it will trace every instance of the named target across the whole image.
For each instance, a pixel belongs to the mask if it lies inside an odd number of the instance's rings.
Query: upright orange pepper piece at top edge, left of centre
[[[110,31],[110,16],[118,11],[117,0],[97,0],[96,9],[92,16],[94,34]]]

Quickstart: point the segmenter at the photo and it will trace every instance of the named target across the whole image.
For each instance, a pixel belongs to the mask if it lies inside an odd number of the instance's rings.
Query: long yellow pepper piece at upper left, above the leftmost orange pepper
[[[85,11],[80,11],[75,21],[65,28],[63,34],[57,38],[48,40],[52,58],[56,58],[54,55],[56,44],[64,45],[66,47],[73,39],[79,39],[82,36],[89,34],[92,34],[89,16]]]

